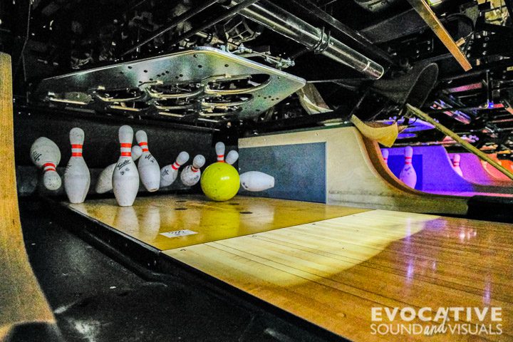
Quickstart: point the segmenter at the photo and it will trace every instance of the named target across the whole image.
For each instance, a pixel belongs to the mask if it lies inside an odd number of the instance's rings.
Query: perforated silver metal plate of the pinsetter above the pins
[[[46,78],[36,100],[177,120],[256,118],[306,81],[216,48],[200,47]]]

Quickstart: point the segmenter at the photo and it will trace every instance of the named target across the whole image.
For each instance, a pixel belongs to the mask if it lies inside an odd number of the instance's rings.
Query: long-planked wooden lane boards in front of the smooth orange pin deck
[[[375,210],[164,253],[352,341],[513,341],[512,229]],[[504,333],[373,335],[374,306],[499,306]]]

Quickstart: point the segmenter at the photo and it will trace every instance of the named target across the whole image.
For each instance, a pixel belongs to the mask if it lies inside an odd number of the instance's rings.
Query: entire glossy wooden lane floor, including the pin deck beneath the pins
[[[351,341],[513,341],[512,224],[256,197],[69,206]],[[161,234],[180,229],[197,234]],[[503,333],[372,333],[371,308],[425,306],[498,306]]]

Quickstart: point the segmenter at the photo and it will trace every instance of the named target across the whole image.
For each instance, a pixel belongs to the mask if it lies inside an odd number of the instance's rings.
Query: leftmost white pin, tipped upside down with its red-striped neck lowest
[[[48,138],[37,138],[31,146],[31,160],[36,167],[43,169],[43,185],[48,190],[57,190],[61,187],[61,176],[56,167],[61,162],[61,150],[55,142]]]

